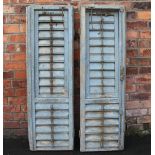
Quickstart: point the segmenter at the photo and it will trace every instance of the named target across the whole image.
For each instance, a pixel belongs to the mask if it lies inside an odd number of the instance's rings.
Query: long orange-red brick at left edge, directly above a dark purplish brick
[[[4,63],[4,70],[25,70],[25,62],[6,62]]]

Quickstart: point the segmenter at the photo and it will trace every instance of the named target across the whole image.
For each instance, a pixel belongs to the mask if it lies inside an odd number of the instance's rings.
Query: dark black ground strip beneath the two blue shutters
[[[87,152],[79,151],[79,141],[75,144],[74,151],[29,151],[27,139],[4,139],[4,154],[3,155],[151,155],[151,136],[126,137],[125,150],[116,152]]]

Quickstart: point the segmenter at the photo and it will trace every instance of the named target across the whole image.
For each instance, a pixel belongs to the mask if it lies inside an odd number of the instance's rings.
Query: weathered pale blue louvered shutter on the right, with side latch
[[[81,151],[124,147],[124,18],[122,7],[81,7]]]

